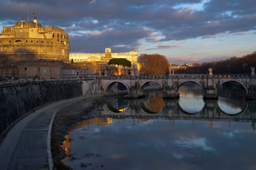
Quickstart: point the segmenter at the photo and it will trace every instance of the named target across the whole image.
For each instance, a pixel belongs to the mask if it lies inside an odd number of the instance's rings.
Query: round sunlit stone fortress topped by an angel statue
[[[3,27],[0,34],[0,63],[61,60],[68,62],[70,44],[64,29],[42,27],[34,21],[16,22],[14,26]]]

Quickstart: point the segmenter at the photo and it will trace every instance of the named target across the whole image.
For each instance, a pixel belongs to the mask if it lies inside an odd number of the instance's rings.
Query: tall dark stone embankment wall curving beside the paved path
[[[56,101],[86,96],[93,79],[19,81],[0,84],[0,136],[33,108]]]

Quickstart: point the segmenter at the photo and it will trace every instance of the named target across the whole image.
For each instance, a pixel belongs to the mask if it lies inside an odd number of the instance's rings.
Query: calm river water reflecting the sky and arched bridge
[[[203,100],[194,83],[179,93],[175,100],[157,91],[103,104],[93,119],[71,127],[63,144],[71,157],[63,162],[74,170],[256,169],[255,101],[228,85],[218,100]]]

